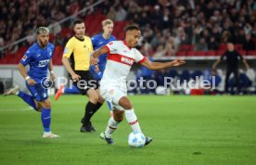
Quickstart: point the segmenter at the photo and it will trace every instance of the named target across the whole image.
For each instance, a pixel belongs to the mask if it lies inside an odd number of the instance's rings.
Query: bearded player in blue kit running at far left
[[[26,80],[26,86],[32,95],[19,91],[16,86],[4,95],[18,95],[24,102],[29,104],[33,109],[41,112],[41,121],[44,127],[44,138],[56,138],[57,134],[51,133],[51,102],[47,94],[47,71],[50,71],[50,78],[55,79],[53,72],[52,56],[54,45],[49,43],[49,30],[45,27],[36,29],[37,43],[27,50],[25,55],[20,59],[19,72]],[[30,70],[27,72],[25,66],[29,65]]]

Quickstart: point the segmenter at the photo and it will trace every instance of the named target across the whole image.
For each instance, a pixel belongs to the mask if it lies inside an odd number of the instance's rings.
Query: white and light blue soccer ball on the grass
[[[128,136],[128,145],[131,147],[142,147],[145,145],[146,137],[143,133],[133,132]]]

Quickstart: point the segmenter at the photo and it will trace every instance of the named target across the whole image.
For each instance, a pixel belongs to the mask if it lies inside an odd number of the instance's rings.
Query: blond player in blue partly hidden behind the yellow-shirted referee
[[[111,35],[111,33],[113,32],[113,28],[114,28],[114,23],[111,19],[103,20],[102,28],[103,28],[102,33],[98,33],[91,38],[94,50],[102,47],[105,44],[109,44],[109,42],[111,42],[111,41],[116,40],[116,37]],[[90,71],[93,74],[96,81],[100,81],[102,78],[103,72],[105,70],[106,62],[107,62],[107,56],[108,56],[107,54],[102,55],[101,57],[99,57],[97,65],[90,67]],[[72,86],[71,88],[60,86],[57,94],[55,95],[55,100],[58,100],[58,97],[62,94],[80,94],[80,92],[75,86]],[[107,102],[107,103],[108,103],[108,106],[110,109],[110,115],[111,115],[112,114],[111,107],[110,107],[109,102]]]

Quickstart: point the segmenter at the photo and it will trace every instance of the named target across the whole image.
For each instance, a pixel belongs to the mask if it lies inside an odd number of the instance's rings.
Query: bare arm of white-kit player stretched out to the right
[[[186,61],[184,61],[183,59],[176,59],[170,62],[151,62],[148,59],[146,59],[142,63],[142,65],[145,66],[148,70],[161,70],[161,69],[167,69],[170,67],[177,67],[185,63]]]

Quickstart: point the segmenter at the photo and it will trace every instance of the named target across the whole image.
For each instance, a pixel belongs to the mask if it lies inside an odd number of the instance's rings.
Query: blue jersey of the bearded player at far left
[[[32,44],[25,55],[20,59],[20,63],[24,66],[30,65],[28,75],[37,83],[40,83],[39,81],[47,76],[49,62],[53,56],[53,53],[53,44],[47,44],[45,49],[40,47],[37,43]]]

